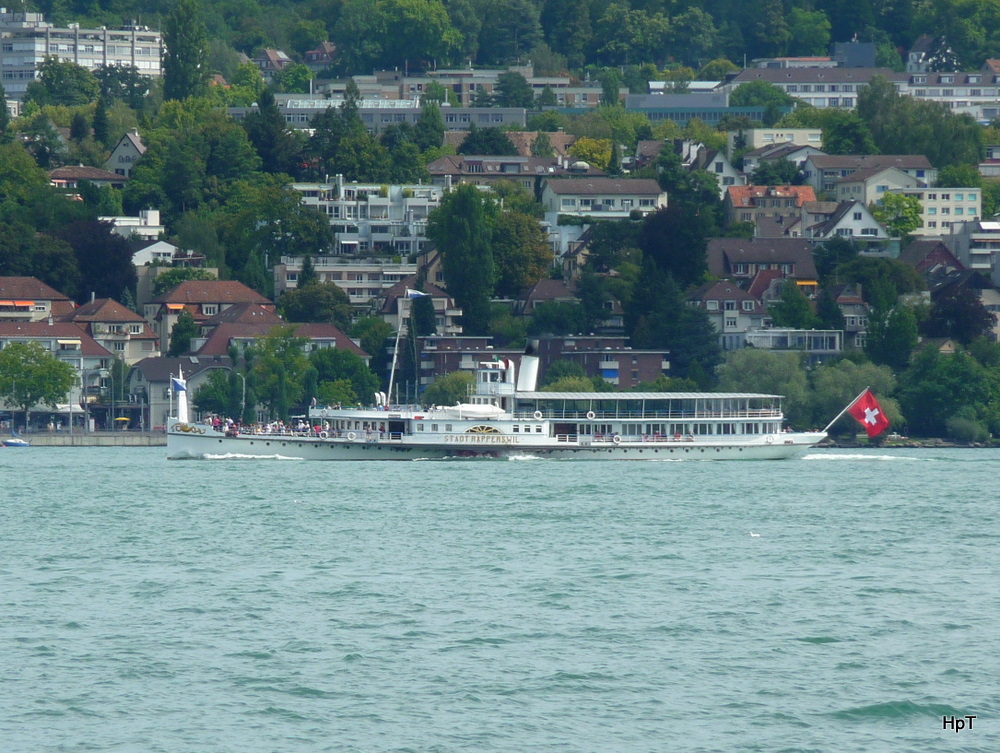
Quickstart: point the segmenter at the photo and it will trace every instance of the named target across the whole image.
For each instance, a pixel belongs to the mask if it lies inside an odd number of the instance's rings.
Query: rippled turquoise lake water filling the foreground
[[[0,450],[0,750],[1000,750],[1000,451],[164,450]]]

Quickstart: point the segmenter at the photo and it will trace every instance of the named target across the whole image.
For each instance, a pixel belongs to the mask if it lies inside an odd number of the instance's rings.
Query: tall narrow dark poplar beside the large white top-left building
[[[176,0],[163,25],[163,98],[187,99],[208,84],[208,35],[197,0]]]

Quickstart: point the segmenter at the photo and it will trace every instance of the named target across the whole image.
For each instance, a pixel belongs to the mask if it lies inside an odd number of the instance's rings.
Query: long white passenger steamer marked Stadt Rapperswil
[[[783,427],[781,396],[716,392],[540,392],[538,359],[483,362],[469,402],[453,406],[315,407],[292,431],[188,419],[183,379],[167,421],[172,459],[426,460],[539,457],[598,460],[776,460],[825,432]]]

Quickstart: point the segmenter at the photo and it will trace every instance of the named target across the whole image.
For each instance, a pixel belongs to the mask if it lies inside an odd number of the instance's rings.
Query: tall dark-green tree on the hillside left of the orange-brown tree
[[[475,186],[461,185],[431,212],[427,235],[442,255],[448,293],[462,309],[465,334],[485,334],[496,268],[490,241],[498,214],[492,199]]]

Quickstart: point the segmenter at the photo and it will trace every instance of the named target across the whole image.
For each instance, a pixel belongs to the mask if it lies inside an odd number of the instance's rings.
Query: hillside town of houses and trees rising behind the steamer
[[[537,340],[543,389],[1000,432],[1000,59],[827,23],[742,66],[398,65],[202,17],[0,10],[0,431],[159,431],[181,372],[244,423],[452,404]]]

